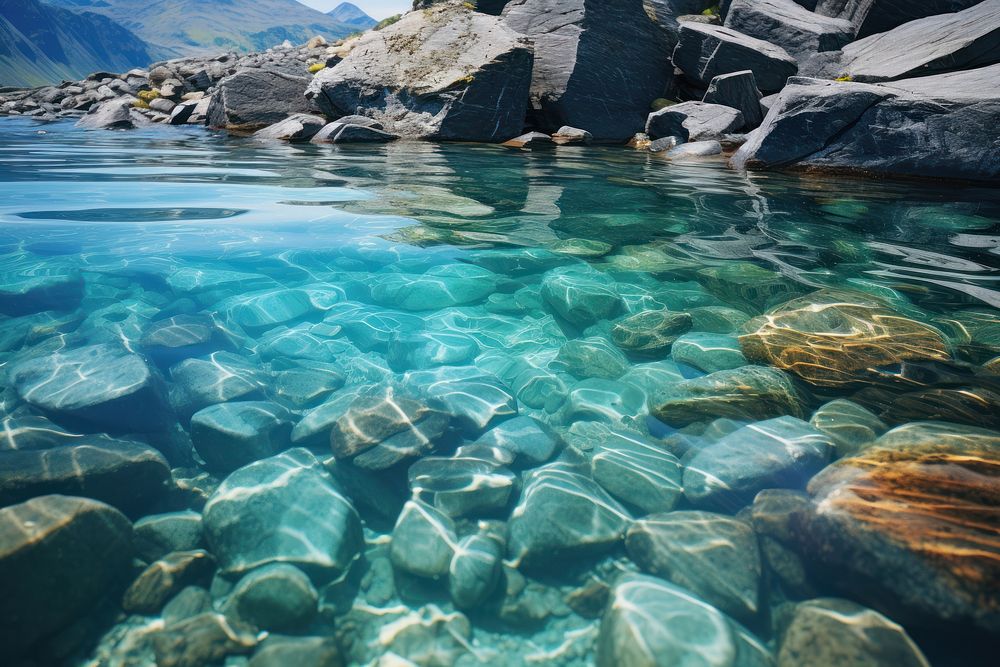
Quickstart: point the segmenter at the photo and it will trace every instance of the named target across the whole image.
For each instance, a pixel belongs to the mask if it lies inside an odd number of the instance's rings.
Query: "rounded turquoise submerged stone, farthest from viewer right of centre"
[[[542,278],[542,299],[570,324],[587,326],[621,309],[614,283],[596,271],[555,269]]]

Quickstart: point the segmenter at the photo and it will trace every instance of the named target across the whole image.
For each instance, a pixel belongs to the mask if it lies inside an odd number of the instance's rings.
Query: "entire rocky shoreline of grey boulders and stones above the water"
[[[0,113],[314,143],[554,137],[736,169],[1000,179],[1000,0],[712,4],[417,2],[332,46],[0,91]]]

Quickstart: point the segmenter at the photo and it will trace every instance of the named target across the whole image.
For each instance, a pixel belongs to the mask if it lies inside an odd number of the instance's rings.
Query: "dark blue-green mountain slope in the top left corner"
[[[156,57],[139,37],[107,16],[38,0],[0,0],[2,86],[41,86],[99,70],[124,72]]]

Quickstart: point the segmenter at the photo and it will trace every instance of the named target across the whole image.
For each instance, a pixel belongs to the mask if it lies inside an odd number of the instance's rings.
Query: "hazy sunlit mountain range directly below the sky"
[[[296,0],[48,0],[103,14],[161,52],[194,55],[260,51],[314,35],[345,37],[357,30]]]

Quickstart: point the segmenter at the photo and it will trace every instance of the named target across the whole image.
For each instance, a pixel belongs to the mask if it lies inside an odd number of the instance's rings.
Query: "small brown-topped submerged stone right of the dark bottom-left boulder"
[[[155,614],[167,600],[187,586],[207,582],[215,559],[207,551],[175,551],[149,565],[126,589],[122,609]]]

